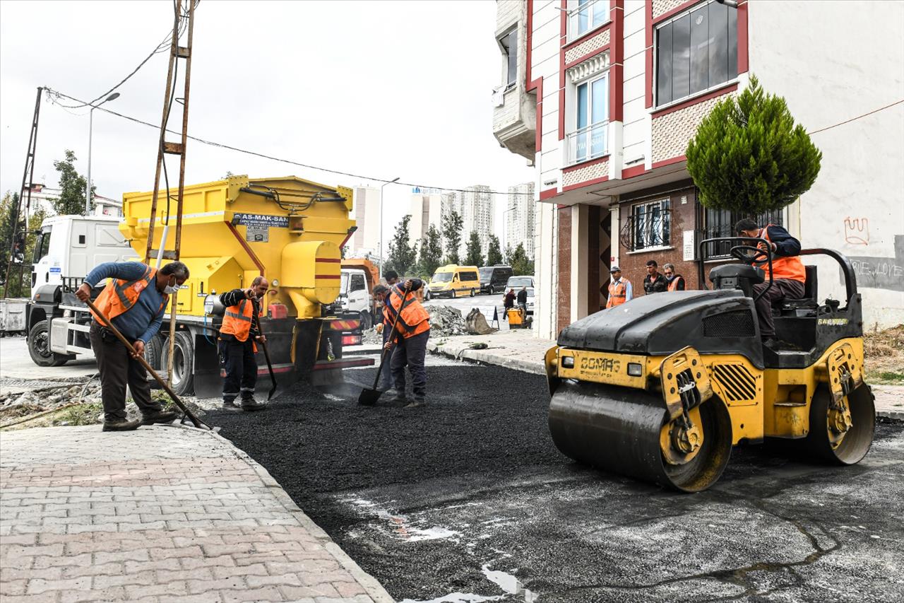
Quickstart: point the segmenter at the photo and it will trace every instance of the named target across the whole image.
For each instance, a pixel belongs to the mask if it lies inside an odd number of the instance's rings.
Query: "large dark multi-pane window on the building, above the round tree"
[[[738,77],[738,11],[710,0],[656,28],[656,106]]]

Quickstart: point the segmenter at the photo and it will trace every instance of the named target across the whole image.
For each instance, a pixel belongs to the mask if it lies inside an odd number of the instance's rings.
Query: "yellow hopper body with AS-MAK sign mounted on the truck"
[[[123,196],[120,230],[139,256],[146,251],[151,196]],[[354,226],[351,188],[298,177],[234,176],[186,186],[183,198],[180,260],[191,271],[185,283],[191,289],[178,296],[179,313],[201,316],[202,295],[248,287],[258,274],[268,278],[275,292],[269,302],[286,304],[289,315],[299,319],[318,318],[320,305],[334,302],[339,250]],[[165,199],[161,191],[153,216],[154,249],[164,235]],[[166,250],[174,249],[174,216],[169,225]]]

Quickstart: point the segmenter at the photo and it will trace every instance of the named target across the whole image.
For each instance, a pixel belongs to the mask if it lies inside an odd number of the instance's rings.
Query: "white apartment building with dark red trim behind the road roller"
[[[684,149],[751,73],[823,151],[814,187],[760,218],[851,258],[867,325],[904,321],[902,29],[901,3],[497,2],[494,135],[532,160],[540,202],[535,333],[602,308],[615,263],[636,294],[650,259],[700,286],[698,243],[741,216],[698,203]],[[806,263],[821,297],[845,297],[836,264]]]

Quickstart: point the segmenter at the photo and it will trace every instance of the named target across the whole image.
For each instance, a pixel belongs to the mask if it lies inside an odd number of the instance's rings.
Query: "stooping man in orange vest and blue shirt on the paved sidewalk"
[[[94,301],[103,318],[91,311],[94,320],[88,332],[100,373],[103,430],[130,431],[139,425],[170,423],[176,414],[151,399],[147,371],[137,358],[144,356],[146,343],[160,329],[169,296],[188,279],[188,266],[171,262],[156,270],[139,262],[101,263],[88,273],[75,296],[82,302],[89,300],[91,290],[105,279],[109,279],[107,287]],[[134,355],[108,330],[106,321],[132,344]],[[127,419],[126,386],[141,411],[141,421]]]

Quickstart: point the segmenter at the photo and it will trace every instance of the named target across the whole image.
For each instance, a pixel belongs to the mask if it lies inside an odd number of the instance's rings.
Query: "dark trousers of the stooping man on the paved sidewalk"
[[[163,407],[151,400],[151,386],[147,383],[147,371],[132,358],[126,346],[116,336],[91,321],[89,330],[91,349],[98,360],[101,400],[104,404],[104,420],[126,418],[126,386],[142,415]]]

